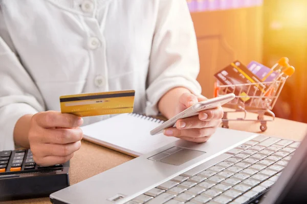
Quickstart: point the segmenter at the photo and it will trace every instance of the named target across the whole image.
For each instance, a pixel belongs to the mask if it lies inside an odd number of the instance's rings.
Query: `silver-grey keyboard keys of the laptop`
[[[224,161],[196,166],[126,204],[250,203],[277,181],[299,144],[258,136],[227,151]]]

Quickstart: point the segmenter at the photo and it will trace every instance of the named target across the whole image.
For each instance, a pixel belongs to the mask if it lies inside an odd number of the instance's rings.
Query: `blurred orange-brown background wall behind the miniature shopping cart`
[[[203,94],[213,96],[214,73],[239,60],[272,67],[288,57],[295,73],[273,112],[307,122],[307,0],[187,0],[198,38]]]

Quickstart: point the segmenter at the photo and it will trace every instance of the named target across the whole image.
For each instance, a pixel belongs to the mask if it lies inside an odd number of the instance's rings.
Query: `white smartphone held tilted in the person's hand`
[[[229,93],[229,94],[226,94],[226,95],[218,96],[218,97],[215,97],[215,98],[210,98],[208,100],[204,100],[204,101],[201,101],[197,104],[194,104],[190,108],[187,108],[186,110],[182,111],[178,115],[170,118],[169,120],[165,121],[164,123],[162,123],[161,125],[159,125],[155,129],[150,131],[150,135],[159,134],[164,129],[167,129],[168,127],[176,126],[175,124],[176,124],[177,120],[179,120],[179,119],[192,117],[192,116],[198,115],[199,112],[201,112],[201,111],[208,110],[208,109],[214,109],[218,106],[222,106],[222,105],[226,104],[227,102],[229,102],[230,100],[232,100],[234,97],[235,97],[235,95],[233,93]]]

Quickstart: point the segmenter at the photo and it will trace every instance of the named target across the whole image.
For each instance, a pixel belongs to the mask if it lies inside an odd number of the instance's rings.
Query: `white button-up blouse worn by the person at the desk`
[[[198,73],[186,0],[0,0],[0,150],[61,95],[134,89],[134,111],[155,115],[174,87],[200,94]]]

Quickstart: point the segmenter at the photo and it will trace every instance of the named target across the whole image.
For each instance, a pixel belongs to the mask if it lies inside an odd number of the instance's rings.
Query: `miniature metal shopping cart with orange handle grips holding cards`
[[[277,74],[277,77],[271,82],[221,85],[216,81],[214,84],[215,97],[228,93],[234,93],[236,95],[233,100],[226,104],[226,107],[232,108],[234,111],[224,112],[222,127],[229,128],[229,121],[259,121],[260,130],[262,132],[266,131],[267,121],[273,121],[275,119],[275,114],[272,112],[272,109],[278,99],[282,87],[294,71],[294,67],[289,65],[289,59],[281,58],[266,75],[266,77],[268,77],[272,73]],[[266,77],[264,77],[262,81],[265,81]],[[261,92],[260,95],[256,94],[258,88],[260,89],[261,86],[266,86],[266,91]],[[229,119],[229,114],[234,112],[241,112],[243,115],[240,118]],[[257,119],[247,119],[247,112],[258,114]],[[271,117],[265,117],[265,115]]]

